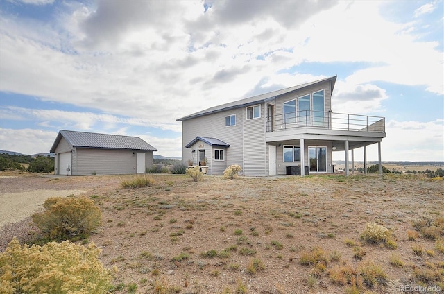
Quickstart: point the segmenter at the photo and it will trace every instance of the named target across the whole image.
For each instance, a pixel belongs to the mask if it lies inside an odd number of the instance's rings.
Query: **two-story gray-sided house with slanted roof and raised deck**
[[[384,117],[332,112],[336,76],[245,98],[184,116],[183,162],[207,157],[209,175],[232,164],[243,174],[267,176],[332,173],[333,152],[343,152],[348,174],[350,150],[386,137]],[[366,164],[364,164],[366,165]],[[365,166],[366,169],[366,166]]]

